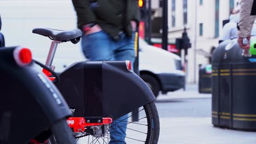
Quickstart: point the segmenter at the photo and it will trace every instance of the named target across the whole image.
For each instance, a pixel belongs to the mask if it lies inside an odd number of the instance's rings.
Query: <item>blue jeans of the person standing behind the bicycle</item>
[[[124,33],[115,41],[103,31],[84,35],[82,49],[90,61],[131,61],[132,70],[135,61],[135,33],[132,38]],[[128,114],[113,121],[110,128],[110,144],[125,143]]]

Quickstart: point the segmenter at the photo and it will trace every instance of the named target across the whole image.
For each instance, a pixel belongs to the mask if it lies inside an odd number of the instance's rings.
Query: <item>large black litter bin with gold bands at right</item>
[[[242,56],[237,39],[220,43],[212,56],[212,123],[256,130],[256,37],[252,57]]]

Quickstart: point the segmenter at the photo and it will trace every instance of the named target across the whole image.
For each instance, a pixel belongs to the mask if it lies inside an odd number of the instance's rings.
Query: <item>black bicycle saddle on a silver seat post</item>
[[[62,42],[71,41],[73,44],[78,43],[80,37],[82,36],[82,31],[80,29],[74,29],[73,31],[62,31],[51,28],[34,28],[32,33],[49,37],[51,40]]]

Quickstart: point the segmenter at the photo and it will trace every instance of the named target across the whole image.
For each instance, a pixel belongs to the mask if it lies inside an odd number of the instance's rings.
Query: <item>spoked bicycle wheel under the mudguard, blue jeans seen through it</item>
[[[132,119],[134,115],[139,114],[138,119]],[[118,123],[125,123],[118,125]],[[117,126],[118,125],[118,126]],[[111,143],[128,144],[156,144],[159,139],[159,116],[154,101],[139,108],[138,112],[129,113],[127,118],[116,120],[111,125],[101,125],[96,133],[74,133],[79,144],[86,143],[110,143],[110,133],[119,127],[126,128],[126,136],[115,135],[118,140],[112,140]],[[86,129],[93,129],[89,127]]]

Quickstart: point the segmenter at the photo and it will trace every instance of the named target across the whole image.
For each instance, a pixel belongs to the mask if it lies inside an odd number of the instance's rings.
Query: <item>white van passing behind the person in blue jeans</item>
[[[44,63],[51,40],[33,34],[36,27],[71,30],[76,26],[76,15],[70,0],[1,0],[2,33],[5,45],[22,45],[30,48],[33,58]],[[142,79],[155,95],[183,88],[185,85],[181,58],[171,52],[148,45],[139,40],[139,71]],[[61,43],[53,65],[61,72],[74,62],[84,61],[80,43]]]

